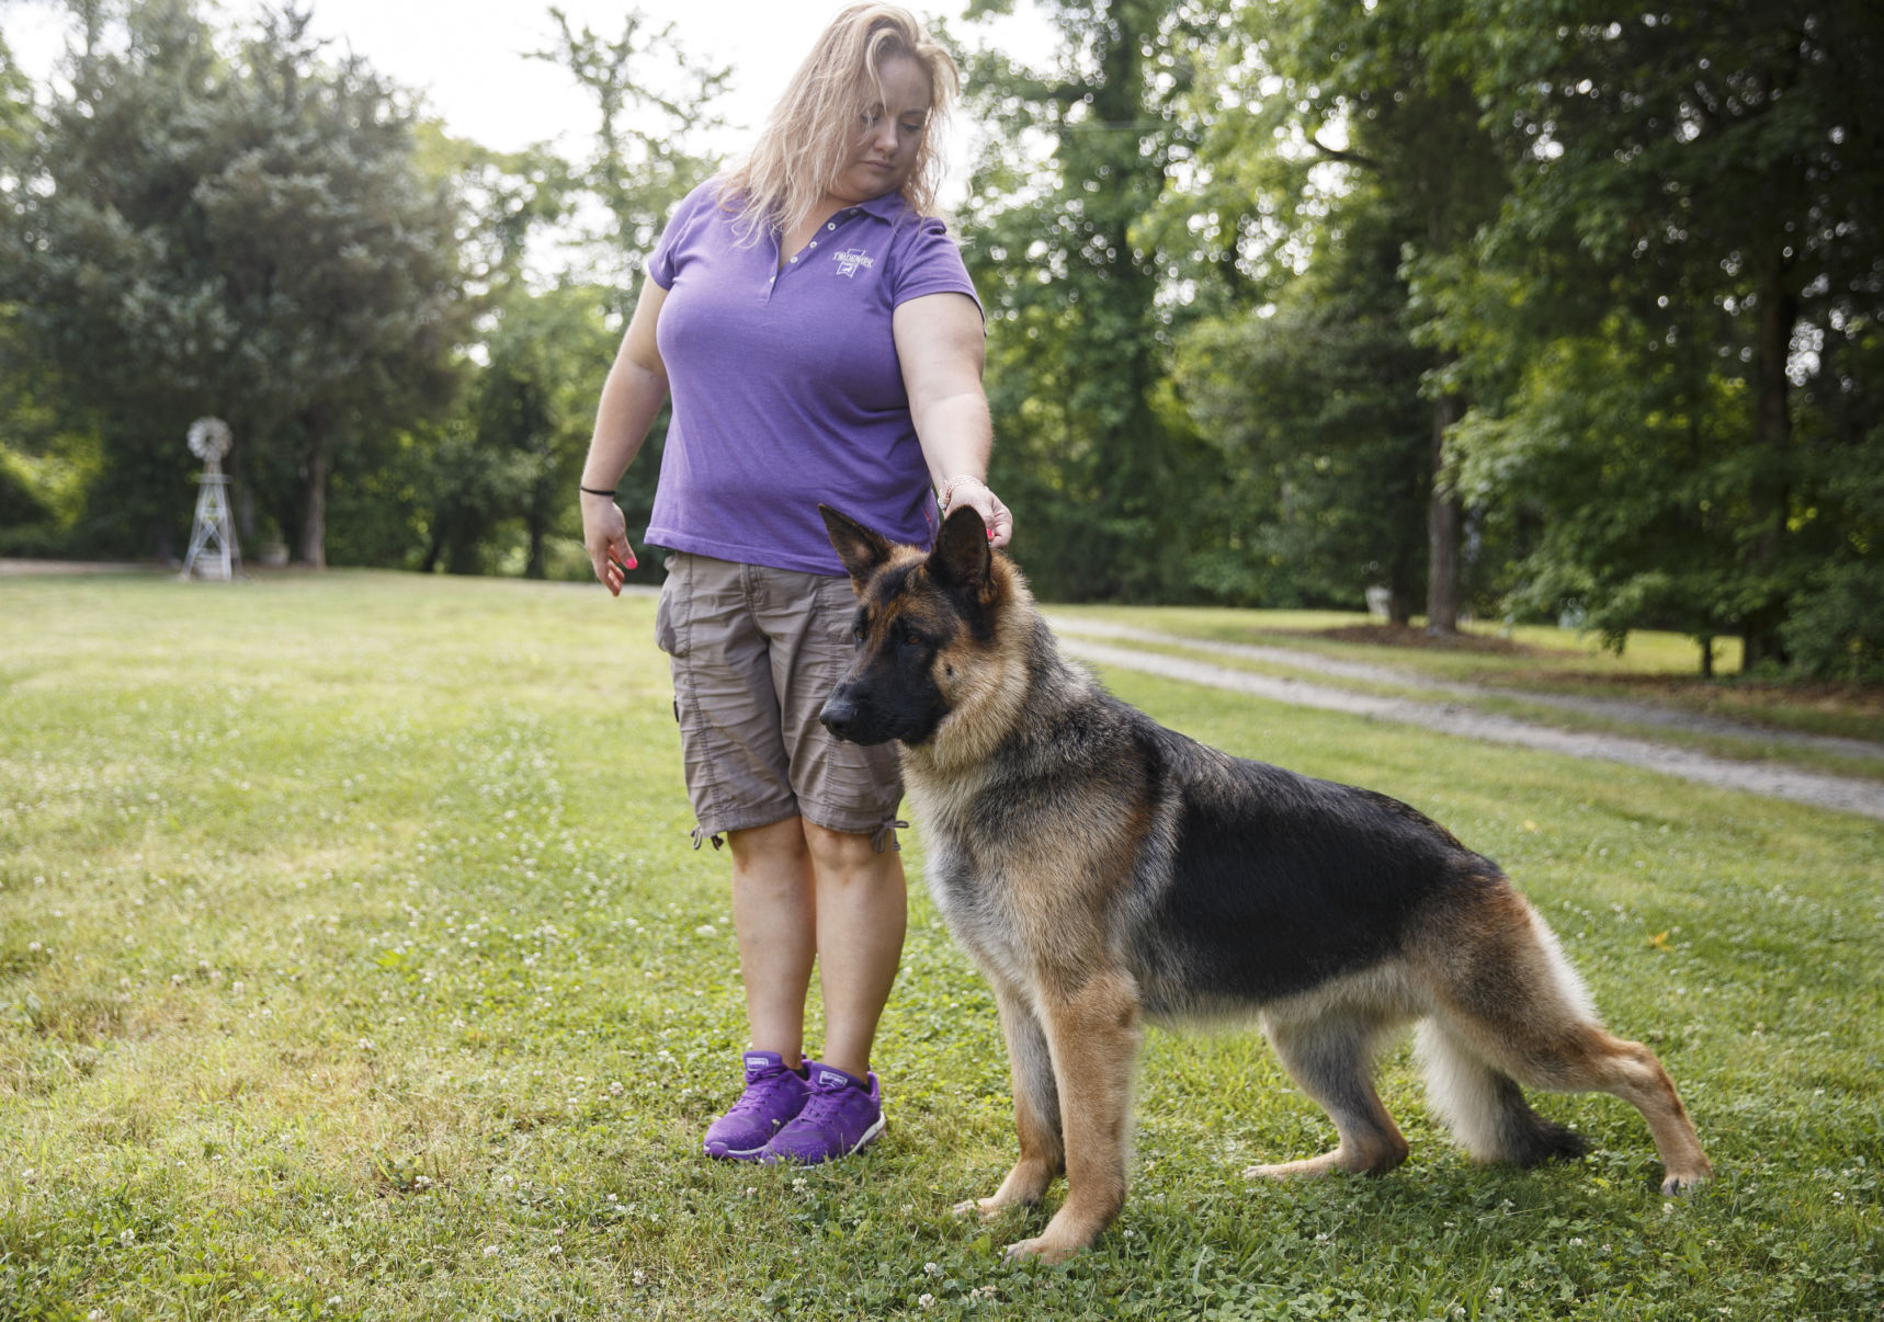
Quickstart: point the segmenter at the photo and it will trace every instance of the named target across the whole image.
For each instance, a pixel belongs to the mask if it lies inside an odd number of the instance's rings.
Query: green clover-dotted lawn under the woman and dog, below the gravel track
[[[695,1156],[740,989],[650,599],[0,580],[0,620],[4,1318],[1884,1307],[1876,823],[1108,676],[1500,859],[1611,1024],[1660,1051],[1718,1179],[1664,1203],[1639,1117],[1584,1096],[1541,1107],[1588,1160],[1475,1168],[1400,1051],[1402,1171],[1247,1186],[1326,1122],[1253,1034],[1153,1032],[1125,1217],[1068,1267],[1015,1267],[999,1247],[1038,1217],[948,1213],[1004,1169],[1008,1083],[919,898],[874,1060],[884,1143],[812,1171]]]

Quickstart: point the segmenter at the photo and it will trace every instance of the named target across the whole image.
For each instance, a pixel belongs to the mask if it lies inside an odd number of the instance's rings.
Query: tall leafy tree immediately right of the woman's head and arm
[[[970,105],[999,128],[963,211],[989,313],[991,476],[1025,510],[1015,554],[1044,591],[1193,595],[1208,576],[1194,556],[1223,540],[1225,508],[1204,478],[1211,454],[1166,380],[1189,316],[1189,252],[1155,220],[1194,149],[1185,105],[1213,11],[1170,0],[1048,9],[1061,32],[1051,70],[987,51],[966,70]]]

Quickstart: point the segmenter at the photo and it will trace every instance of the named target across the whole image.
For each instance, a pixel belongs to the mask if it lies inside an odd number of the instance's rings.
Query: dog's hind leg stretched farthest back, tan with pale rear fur
[[[1454,1072],[1453,1079],[1466,1079],[1464,1096],[1477,1088],[1483,1098],[1490,1087],[1500,1122],[1520,1130],[1515,1143],[1509,1136],[1503,1139],[1503,1151],[1496,1151],[1494,1136],[1496,1156],[1524,1160],[1539,1145],[1556,1141],[1556,1126],[1535,1117],[1524,1120],[1515,1109],[1530,1111],[1522,1098],[1513,1105],[1517,1088],[1505,1083],[1515,1079],[1552,1092],[1609,1092],[1641,1111],[1662,1156],[1664,1194],[1684,1192],[1713,1175],[1667,1070],[1643,1043],[1603,1030],[1556,936],[1515,891],[1486,896],[1470,923],[1451,928],[1447,947],[1434,962],[1441,972],[1434,1006],[1437,1028],[1426,1030],[1424,1041],[1437,1041],[1441,1053],[1449,1053],[1441,1075],[1464,1060],[1468,1070]],[[1470,1070],[1473,1056],[1483,1062],[1477,1083]],[[1445,1105],[1441,1102],[1441,1109]],[[1483,1104],[1479,1109],[1483,1113]],[[1534,1128],[1524,1132],[1528,1124]]]

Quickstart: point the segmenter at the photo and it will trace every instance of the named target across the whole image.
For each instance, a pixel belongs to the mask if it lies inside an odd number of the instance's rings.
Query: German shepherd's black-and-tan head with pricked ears
[[[982,669],[1012,569],[989,550],[987,525],[970,507],[944,520],[927,554],[827,505],[818,512],[857,591],[857,659],[818,719],[855,744],[923,744]]]

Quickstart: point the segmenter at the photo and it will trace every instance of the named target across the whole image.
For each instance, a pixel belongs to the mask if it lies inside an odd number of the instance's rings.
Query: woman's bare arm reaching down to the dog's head
[[[951,505],[980,510],[989,540],[1006,546],[1014,516],[985,480],[993,424],[982,390],[982,309],[966,294],[925,294],[897,307],[891,331],[931,480]]]

